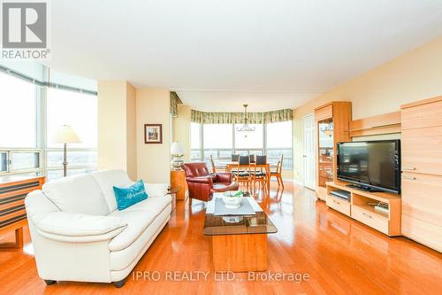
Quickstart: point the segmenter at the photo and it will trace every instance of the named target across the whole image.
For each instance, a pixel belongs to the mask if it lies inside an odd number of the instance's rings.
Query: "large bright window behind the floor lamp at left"
[[[43,76],[44,67],[41,69]],[[69,146],[68,175],[94,170],[96,95],[37,86],[29,82],[33,79],[12,72],[0,72],[4,111],[0,113],[0,175],[47,175],[48,180],[61,177],[63,146],[51,140],[61,125],[71,125],[81,140],[81,144]]]

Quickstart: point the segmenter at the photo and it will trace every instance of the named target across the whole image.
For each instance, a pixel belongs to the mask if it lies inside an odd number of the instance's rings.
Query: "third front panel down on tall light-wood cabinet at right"
[[[402,213],[442,224],[442,176],[402,174]]]

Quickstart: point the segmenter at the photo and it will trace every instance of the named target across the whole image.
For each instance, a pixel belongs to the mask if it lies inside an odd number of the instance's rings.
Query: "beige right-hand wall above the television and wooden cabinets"
[[[363,57],[362,57],[363,58]],[[332,100],[353,105],[353,119],[399,111],[400,105],[442,94],[442,37],[346,82],[296,109],[293,176],[303,180],[302,117]]]

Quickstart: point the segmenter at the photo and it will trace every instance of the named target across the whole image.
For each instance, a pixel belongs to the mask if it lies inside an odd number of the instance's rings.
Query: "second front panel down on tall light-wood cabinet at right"
[[[442,127],[402,130],[402,171],[442,175]]]

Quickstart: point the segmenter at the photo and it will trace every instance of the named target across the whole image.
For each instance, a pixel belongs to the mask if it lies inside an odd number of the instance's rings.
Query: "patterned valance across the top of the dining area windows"
[[[244,113],[209,113],[192,110],[191,120],[200,124],[242,124]],[[249,124],[265,124],[293,120],[293,110],[284,109],[265,113],[248,113]]]

